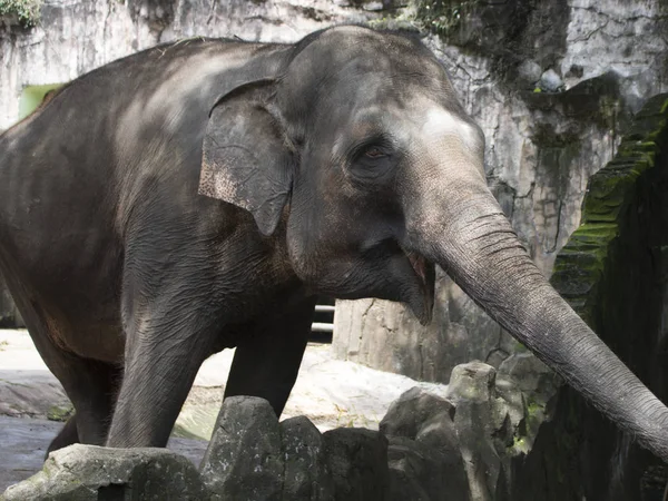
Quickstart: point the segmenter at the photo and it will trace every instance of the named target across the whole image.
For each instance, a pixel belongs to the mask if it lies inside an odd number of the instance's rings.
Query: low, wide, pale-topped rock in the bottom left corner
[[[49,455],[42,471],[9,488],[2,501],[154,501],[208,499],[197,470],[166,449],[70,445]]]

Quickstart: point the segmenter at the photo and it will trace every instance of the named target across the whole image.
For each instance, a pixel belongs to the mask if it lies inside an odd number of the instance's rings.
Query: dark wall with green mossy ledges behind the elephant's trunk
[[[553,285],[668,402],[668,94],[635,117],[617,156],[588,185],[582,225]],[[661,500],[666,471],[569,387],[533,450],[514,464],[513,500]]]

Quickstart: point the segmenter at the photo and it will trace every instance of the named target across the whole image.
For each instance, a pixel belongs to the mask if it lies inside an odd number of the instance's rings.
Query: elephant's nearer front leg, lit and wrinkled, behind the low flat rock
[[[150,267],[145,262],[132,263],[124,276],[125,365],[107,439],[112,448],[167,445],[223,323],[213,294],[203,294],[214,291],[206,277],[194,275],[188,266],[146,269]]]

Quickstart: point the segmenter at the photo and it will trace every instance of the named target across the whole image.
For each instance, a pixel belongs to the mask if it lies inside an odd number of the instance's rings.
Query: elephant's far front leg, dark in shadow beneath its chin
[[[225,397],[259,396],[281,416],[295,384],[313,322],[315,297],[285,305],[258,321],[236,348]]]

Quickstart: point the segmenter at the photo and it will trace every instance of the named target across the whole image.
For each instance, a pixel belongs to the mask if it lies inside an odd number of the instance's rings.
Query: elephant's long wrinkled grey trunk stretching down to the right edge
[[[423,189],[421,206],[430,209],[415,210],[406,222],[411,246],[446,271],[596,407],[668,462],[668,409],[546,281],[480,178],[473,189],[471,183]]]

